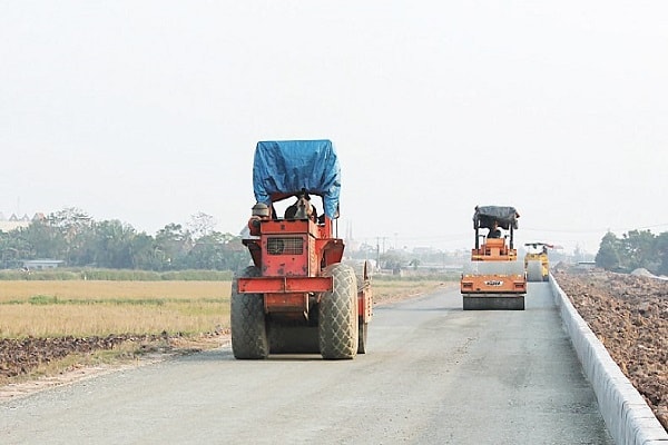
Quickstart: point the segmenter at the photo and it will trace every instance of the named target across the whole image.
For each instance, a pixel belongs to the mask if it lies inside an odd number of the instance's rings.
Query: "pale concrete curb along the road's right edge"
[[[618,445],[668,445],[668,433],[550,275],[554,301]]]

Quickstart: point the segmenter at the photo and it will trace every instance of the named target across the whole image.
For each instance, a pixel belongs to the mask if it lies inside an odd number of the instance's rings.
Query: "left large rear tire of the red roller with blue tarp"
[[[257,267],[247,267],[232,279],[230,333],[236,358],[259,359],[269,355],[269,342],[262,294],[239,294],[237,278],[258,277]]]

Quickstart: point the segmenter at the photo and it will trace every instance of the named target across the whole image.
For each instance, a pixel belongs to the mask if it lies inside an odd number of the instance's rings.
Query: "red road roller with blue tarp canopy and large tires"
[[[259,141],[253,164],[256,205],[243,239],[253,265],[233,279],[232,349],[236,358],[366,353],[372,318],[366,264],[342,263],[337,237],[341,169],[330,140]],[[317,214],[312,197],[322,199]],[[295,199],[284,215],[276,205]]]

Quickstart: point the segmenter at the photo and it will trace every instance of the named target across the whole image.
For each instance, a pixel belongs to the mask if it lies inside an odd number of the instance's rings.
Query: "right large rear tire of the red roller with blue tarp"
[[[334,287],[322,295],[318,306],[318,342],[323,358],[350,359],[357,354],[357,283],[352,267],[327,266],[324,276],[334,278]]]

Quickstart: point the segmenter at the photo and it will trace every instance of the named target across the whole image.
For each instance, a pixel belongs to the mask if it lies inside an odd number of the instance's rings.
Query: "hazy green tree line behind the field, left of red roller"
[[[59,259],[67,267],[137,270],[238,270],[250,257],[240,237],[215,231],[213,217],[197,214],[188,227],[168,224],[155,236],[119,220],[96,221],[66,208],[28,227],[0,231],[0,267],[26,259]]]

